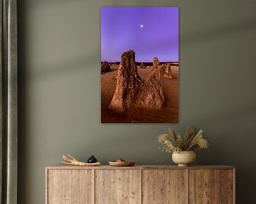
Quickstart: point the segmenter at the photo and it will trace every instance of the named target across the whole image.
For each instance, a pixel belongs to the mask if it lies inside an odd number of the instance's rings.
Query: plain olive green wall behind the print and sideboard
[[[180,7],[180,123],[100,123],[101,6]],[[84,161],[94,154],[103,164],[117,157],[171,164],[156,136],[187,125],[213,140],[198,164],[236,166],[237,203],[254,203],[255,6],[254,0],[19,1],[18,203],[45,202],[45,166],[58,164],[63,153]]]

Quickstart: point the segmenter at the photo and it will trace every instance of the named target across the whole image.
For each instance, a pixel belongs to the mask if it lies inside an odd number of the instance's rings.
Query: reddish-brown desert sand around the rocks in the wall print
[[[117,64],[111,65],[111,72],[101,75],[101,122],[102,123],[178,123],[178,66],[171,66],[174,79],[161,77],[164,90],[164,104],[159,109],[132,108],[125,115],[117,115],[110,111],[116,86]],[[151,67],[139,69],[138,74],[145,79]]]

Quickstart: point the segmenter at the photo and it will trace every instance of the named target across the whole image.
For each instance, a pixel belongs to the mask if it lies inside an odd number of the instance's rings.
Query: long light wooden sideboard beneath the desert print
[[[234,204],[233,166],[46,167],[46,204]]]

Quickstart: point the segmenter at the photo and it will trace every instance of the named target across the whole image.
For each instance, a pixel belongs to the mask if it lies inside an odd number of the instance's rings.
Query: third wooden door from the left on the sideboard
[[[142,172],[142,203],[188,202],[186,169],[144,169]]]

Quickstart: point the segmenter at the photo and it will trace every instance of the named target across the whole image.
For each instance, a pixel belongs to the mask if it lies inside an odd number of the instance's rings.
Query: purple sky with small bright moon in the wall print
[[[137,62],[178,61],[178,7],[102,7],[101,60],[129,49]]]

